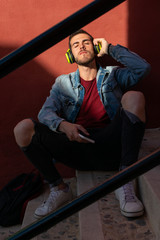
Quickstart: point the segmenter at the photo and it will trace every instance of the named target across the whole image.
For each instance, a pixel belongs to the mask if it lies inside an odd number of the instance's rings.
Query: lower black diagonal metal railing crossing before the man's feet
[[[69,204],[20,230],[8,240],[29,240],[160,164],[160,148]]]

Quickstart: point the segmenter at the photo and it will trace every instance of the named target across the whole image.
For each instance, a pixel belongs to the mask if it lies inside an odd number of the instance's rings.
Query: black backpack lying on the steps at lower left
[[[0,225],[4,227],[20,224],[29,200],[37,197],[42,190],[40,173],[22,173],[11,180],[0,191]]]

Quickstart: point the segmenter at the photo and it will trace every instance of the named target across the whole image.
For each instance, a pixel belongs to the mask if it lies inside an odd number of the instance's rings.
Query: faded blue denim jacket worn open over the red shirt
[[[121,104],[123,93],[146,76],[150,65],[121,45],[111,45],[109,55],[124,65],[123,68],[100,66],[96,76],[100,99],[112,120]],[[39,121],[53,131],[57,131],[63,120],[74,123],[84,94],[84,87],[80,84],[79,70],[59,76],[38,114]]]

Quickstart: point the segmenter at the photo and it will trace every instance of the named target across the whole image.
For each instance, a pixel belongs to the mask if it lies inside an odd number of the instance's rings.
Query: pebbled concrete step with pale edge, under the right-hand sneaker
[[[77,172],[78,194],[103,183],[113,172]],[[129,219],[121,215],[119,202],[110,193],[79,212],[80,240],[155,240],[146,214]],[[158,240],[158,239],[157,239]]]

